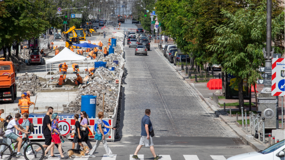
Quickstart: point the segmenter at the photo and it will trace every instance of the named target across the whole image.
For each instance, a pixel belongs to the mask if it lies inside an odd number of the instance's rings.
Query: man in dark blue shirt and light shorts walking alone
[[[134,152],[134,155],[132,156],[132,158],[137,159],[137,160],[140,159],[137,156],[137,153],[140,151],[140,148],[142,148],[143,146],[150,147],[151,153],[154,157],[154,160],[161,159],[161,157],[162,157],[162,156],[155,154],[154,148],[153,148],[152,137],[149,135],[149,131],[151,131],[153,129],[151,119],[149,118],[150,115],[151,115],[151,110],[146,109],[145,110],[145,116],[143,116],[143,119],[142,119],[142,133],[140,134],[141,135],[140,144],[137,146],[137,149]]]

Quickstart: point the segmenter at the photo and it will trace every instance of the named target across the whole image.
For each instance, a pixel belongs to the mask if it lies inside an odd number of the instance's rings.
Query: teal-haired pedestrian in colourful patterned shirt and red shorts
[[[47,149],[45,149],[45,155],[47,154],[48,150],[50,150],[51,148],[54,148],[54,145],[55,144],[58,144],[58,152],[60,154],[60,159],[68,159],[68,157],[65,157],[62,153],[62,150],[61,150],[61,141],[60,141],[60,137],[61,134],[59,132],[59,129],[58,129],[58,122],[57,122],[57,119],[58,119],[58,113],[53,113],[53,115],[51,116],[51,119],[52,119],[52,122],[51,122],[51,144],[47,147]],[[54,156],[54,155],[53,155]],[[46,156],[44,156],[44,159],[47,159]]]

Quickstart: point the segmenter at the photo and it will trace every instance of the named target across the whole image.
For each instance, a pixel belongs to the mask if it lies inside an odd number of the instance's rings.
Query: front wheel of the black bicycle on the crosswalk
[[[38,148],[41,148],[41,150],[36,152]],[[39,143],[30,143],[24,149],[24,156],[26,160],[42,160],[45,156],[45,149]]]

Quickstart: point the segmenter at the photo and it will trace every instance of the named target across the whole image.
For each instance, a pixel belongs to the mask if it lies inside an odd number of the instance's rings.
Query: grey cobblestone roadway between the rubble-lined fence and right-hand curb
[[[141,118],[151,109],[151,121],[157,136],[236,137],[221,123],[176,75],[173,68],[154,52],[134,55],[134,48],[125,47],[126,77],[120,135],[140,135]]]

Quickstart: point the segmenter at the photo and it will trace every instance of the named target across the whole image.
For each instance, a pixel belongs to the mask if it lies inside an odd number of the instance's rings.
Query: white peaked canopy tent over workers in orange
[[[72,52],[70,49],[65,47],[56,56],[45,61],[45,70],[47,73],[47,64],[56,63],[56,62],[83,61],[83,65],[85,66],[84,64],[85,60],[87,61],[87,57],[77,55],[76,53]],[[88,68],[88,63],[87,63],[87,68]],[[51,73],[51,70],[50,70],[50,73]],[[84,77],[85,77],[85,70],[84,70]],[[50,74],[50,79],[51,79],[51,74]]]

